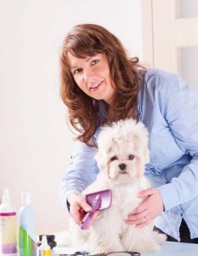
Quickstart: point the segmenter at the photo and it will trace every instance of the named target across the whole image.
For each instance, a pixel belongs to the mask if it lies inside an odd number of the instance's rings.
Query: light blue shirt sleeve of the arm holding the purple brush
[[[59,187],[59,198],[61,203],[67,206],[67,196],[69,194],[81,194],[86,187],[93,183],[99,168],[94,156],[97,148],[88,147],[85,143],[76,141],[71,162]]]

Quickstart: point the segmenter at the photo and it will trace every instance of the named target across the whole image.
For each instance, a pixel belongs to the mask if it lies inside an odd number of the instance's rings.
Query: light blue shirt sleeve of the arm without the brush
[[[165,102],[165,118],[175,143],[190,158],[178,177],[158,188],[168,210],[198,196],[198,94],[183,79],[174,76]]]

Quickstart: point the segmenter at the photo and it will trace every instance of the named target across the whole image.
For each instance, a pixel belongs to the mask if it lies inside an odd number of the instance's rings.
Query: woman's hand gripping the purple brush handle
[[[70,194],[68,195],[67,200],[71,205],[71,208],[70,208],[71,217],[74,219],[76,224],[80,225],[86,213],[92,211],[92,207],[88,205],[88,203],[85,201],[85,198],[82,195]],[[96,211],[93,213],[93,216],[90,219],[88,226],[86,227],[86,230],[89,229],[89,227],[93,224],[93,222],[95,221],[98,215],[99,215],[99,211]]]

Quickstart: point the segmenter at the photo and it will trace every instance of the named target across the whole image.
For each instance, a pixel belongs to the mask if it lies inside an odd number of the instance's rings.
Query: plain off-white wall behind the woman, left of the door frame
[[[0,195],[30,191],[37,232],[67,227],[58,189],[73,143],[59,99],[59,49],[78,23],[106,26],[142,56],[139,0],[1,0]]]

